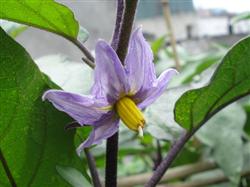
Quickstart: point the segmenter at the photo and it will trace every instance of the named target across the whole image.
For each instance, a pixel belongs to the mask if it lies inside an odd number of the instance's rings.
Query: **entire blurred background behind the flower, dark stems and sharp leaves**
[[[93,51],[98,39],[110,41],[115,0],[57,2],[71,8],[80,25],[89,32],[86,47]],[[5,21],[1,25],[5,29],[14,27]],[[249,35],[250,0],[140,0],[135,27],[140,25],[154,53],[157,74],[169,67],[177,67],[180,74],[171,81],[169,90],[144,111],[147,119],[144,138],[139,139],[124,125],[120,126],[119,186],[145,183],[183,132],[173,117],[176,100],[185,91],[206,85],[227,50]],[[88,93],[92,71],[82,63],[82,53],[72,43],[31,27],[16,40],[64,90]],[[88,129],[78,130],[85,139]],[[76,141],[76,146],[79,143]],[[105,143],[91,152],[104,176]],[[168,187],[249,187],[249,97],[207,122],[172,166],[170,177],[165,178],[173,182]]]

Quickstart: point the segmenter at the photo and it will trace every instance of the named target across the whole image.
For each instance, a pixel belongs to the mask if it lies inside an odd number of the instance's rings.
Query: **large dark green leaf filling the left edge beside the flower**
[[[74,131],[64,130],[72,119],[42,101],[53,83],[1,28],[0,43],[0,147],[17,186],[68,186],[56,165],[85,171]],[[10,186],[2,165],[0,179],[1,186]]]

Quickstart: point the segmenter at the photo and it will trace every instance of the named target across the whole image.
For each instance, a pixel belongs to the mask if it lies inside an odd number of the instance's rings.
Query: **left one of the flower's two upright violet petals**
[[[127,80],[122,66],[113,48],[100,40],[96,45],[95,84],[92,95],[105,96],[109,102],[115,102],[127,90]]]

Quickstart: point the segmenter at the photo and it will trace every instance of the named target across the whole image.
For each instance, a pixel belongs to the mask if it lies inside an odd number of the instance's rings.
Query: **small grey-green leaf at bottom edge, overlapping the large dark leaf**
[[[57,172],[73,187],[90,187],[90,183],[75,168],[56,166]]]

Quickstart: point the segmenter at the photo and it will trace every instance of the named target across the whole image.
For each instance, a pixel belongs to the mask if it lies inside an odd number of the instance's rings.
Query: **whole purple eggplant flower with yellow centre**
[[[88,139],[78,147],[78,153],[116,133],[120,119],[129,129],[141,134],[145,125],[141,110],[163,93],[177,73],[175,69],[168,69],[156,77],[153,54],[141,28],[131,35],[124,66],[103,40],[98,41],[95,54],[95,82],[91,95],[61,90],[48,90],[43,95],[44,100],[48,99],[82,126],[93,127]]]

